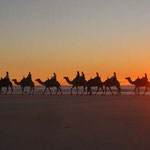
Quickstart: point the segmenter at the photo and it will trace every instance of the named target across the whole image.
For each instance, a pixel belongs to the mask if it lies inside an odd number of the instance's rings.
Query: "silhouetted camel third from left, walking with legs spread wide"
[[[43,95],[45,94],[45,92],[46,92],[47,89],[49,90],[50,94],[52,95],[52,92],[51,92],[50,87],[56,87],[56,88],[57,88],[56,95],[58,94],[59,91],[60,91],[60,93],[61,93],[61,95],[62,95],[62,90],[61,90],[61,88],[60,88],[61,85],[60,85],[60,83],[59,83],[58,81],[55,81],[54,79],[50,79],[50,80],[48,79],[48,80],[46,80],[45,82],[41,81],[41,79],[36,79],[36,81],[37,81],[39,84],[45,86],[45,90],[44,90],[44,92],[43,92]]]

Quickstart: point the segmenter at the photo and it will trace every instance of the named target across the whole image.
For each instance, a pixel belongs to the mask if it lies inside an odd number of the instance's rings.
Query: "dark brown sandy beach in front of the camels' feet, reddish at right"
[[[149,150],[150,96],[0,96],[0,150]]]

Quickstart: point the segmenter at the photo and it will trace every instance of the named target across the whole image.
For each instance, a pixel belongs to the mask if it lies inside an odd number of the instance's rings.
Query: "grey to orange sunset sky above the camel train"
[[[121,84],[150,79],[149,0],[1,0],[0,77],[30,71],[61,84],[76,71],[102,80],[115,71]]]

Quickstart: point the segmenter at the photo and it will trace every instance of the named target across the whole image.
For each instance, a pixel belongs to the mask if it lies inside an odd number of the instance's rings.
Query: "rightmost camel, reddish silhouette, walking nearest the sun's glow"
[[[140,87],[145,87],[145,91],[142,95],[145,95],[145,93],[147,92],[147,89],[150,88],[150,82],[147,80],[144,80],[144,78],[142,79],[136,79],[135,81],[132,81],[130,77],[126,77],[126,80],[128,80],[128,82],[132,85],[135,85],[134,88],[134,92],[135,95],[140,95]],[[136,92],[136,89],[138,90],[138,93]]]

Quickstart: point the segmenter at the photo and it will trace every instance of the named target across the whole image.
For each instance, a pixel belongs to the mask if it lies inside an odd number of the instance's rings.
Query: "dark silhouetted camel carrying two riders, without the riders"
[[[71,87],[71,95],[72,95],[72,90],[74,87],[76,87],[76,90],[77,90],[77,95],[79,94],[78,93],[78,87],[82,86],[83,87],[83,92],[81,93],[81,95],[84,94],[85,92],[85,88],[86,88],[86,80],[80,80],[79,81],[76,81],[76,79],[70,81],[70,79],[68,77],[64,77],[64,79],[66,80],[67,83],[71,84],[72,87]]]

